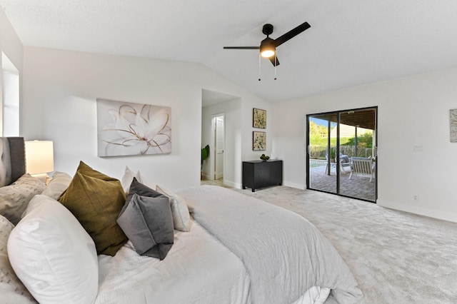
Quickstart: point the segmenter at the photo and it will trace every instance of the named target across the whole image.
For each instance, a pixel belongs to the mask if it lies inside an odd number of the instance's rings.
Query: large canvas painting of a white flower
[[[99,156],[171,153],[171,108],[97,98]]]

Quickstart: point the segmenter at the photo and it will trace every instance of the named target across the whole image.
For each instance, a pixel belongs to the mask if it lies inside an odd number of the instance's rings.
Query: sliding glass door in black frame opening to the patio
[[[376,203],[377,107],[306,116],[306,188]]]

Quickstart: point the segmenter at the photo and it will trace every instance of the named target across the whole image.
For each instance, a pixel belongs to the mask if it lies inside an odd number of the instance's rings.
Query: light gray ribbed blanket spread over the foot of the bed
[[[179,194],[195,220],[243,261],[253,303],[293,303],[313,286],[331,288],[326,303],[362,298],[333,245],[298,214],[216,186]]]

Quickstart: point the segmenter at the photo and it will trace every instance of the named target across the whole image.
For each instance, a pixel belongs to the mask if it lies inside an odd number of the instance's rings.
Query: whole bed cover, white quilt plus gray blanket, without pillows
[[[130,242],[100,255],[96,303],[314,303],[327,288],[326,303],[361,298],[333,246],[296,213],[214,186],[179,194],[196,219],[191,231],[175,231],[162,261]]]

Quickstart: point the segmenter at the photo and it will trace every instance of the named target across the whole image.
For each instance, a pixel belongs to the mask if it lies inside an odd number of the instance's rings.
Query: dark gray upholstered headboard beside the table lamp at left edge
[[[0,137],[0,187],[7,186],[26,173],[23,137]]]

